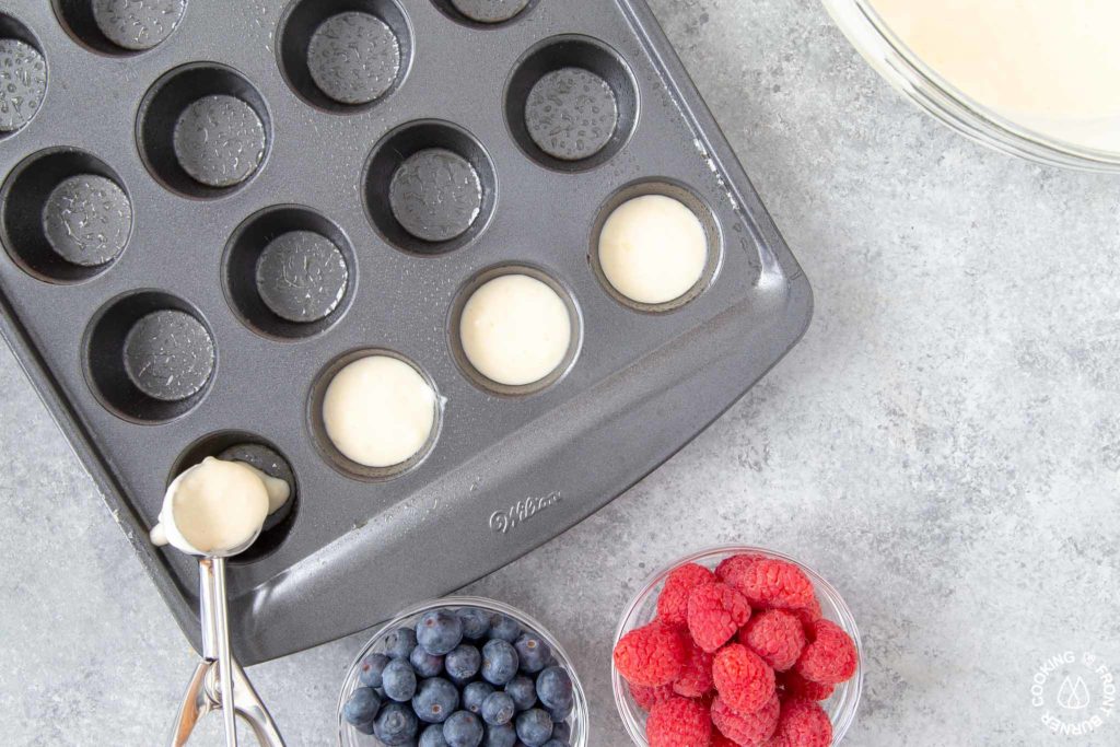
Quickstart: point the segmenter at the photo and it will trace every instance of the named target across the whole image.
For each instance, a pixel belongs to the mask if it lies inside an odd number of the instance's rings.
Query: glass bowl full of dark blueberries
[[[338,728],[342,747],[587,747],[587,698],[540,623],[449,597],[404,610],[366,644]]]

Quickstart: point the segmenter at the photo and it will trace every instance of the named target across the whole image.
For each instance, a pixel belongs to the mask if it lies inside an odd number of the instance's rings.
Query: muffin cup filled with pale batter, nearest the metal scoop
[[[319,450],[349,477],[383,480],[418,466],[439,439],[435,382],[399,353],[348,353],[318,376],[308,420]]]

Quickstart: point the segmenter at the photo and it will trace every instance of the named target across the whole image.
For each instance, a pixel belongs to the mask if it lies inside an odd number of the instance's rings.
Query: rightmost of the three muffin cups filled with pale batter
[[[681,308],[715,281],[722,237],[692,190],[668,181],[624,187],[599,209],[589,260],[604,290],[636,311]]]

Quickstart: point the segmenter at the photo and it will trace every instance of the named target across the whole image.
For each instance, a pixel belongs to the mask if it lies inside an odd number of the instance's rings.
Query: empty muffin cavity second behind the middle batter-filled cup
[[[319,109],[353,113],[395,91],[412,59],[412,32],[394,0],[296,0],[277,49],[291,88]]]

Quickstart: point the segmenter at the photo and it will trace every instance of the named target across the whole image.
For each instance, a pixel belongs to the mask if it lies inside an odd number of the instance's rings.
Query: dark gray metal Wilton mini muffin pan
[[[664,194],[689,293],[614,292],[597,233]],[[797,340],[809,283],[642,0],[10,0],[0,329],[194,643],[168,483],[243,458],[293,497],[231,564],[243,663],[368,627],[585,519]],[[573,335],[529,386],[475,371],[469,293],[520,272]],[[388,354],[439,395],[413,459],[348,463],[318,408]],[[682,496],[682,499],[687,499]]]

